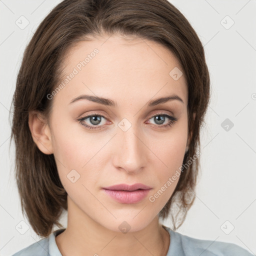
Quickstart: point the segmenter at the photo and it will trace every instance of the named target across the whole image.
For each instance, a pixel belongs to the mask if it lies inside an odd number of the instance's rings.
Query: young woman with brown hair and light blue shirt
[[[175,231],[194,200],[208,100],[201,42],[167,0],[59,3],[13,96],[22,211],[44,237],[14,255],[251,255]],[[63,209],[67,227],[52,232]],[[159,222],[168,215],[173,229]]]

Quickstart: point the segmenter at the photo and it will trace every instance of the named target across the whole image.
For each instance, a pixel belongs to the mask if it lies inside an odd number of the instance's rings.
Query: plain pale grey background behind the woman
[[[8,114],[24,47],[58,2],[0,0],[0,255],[11,255],[39,240],[21,214],[13,175],[13,144],[8,150]],[[210,106],[201,130],[196,199],[177,231],[200,239],[233,242],[255,254],[256,1],[170,2],[201,39],[211,76]],[[20,18],[22,15],[25,18]],[[29,24],[23,28],[26,20]],[[226,130],[230,122],[233,127],[229,125]],[[66,224],[66,214],[62,223]],[[170,226],[168,220],[164,224]]]

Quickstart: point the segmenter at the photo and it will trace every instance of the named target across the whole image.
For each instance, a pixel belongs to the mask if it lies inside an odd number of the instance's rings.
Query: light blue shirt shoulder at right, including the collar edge
[[[203,256],[252,256],[246,249],[230,242],[216,240],[204,240],[193,238],[169,227],[166,230],[170,234],[170,252],[178,255],[203,255]],[[172,255],[170,253],[170,255]],[[168,256],[168,254],[167,254]]]

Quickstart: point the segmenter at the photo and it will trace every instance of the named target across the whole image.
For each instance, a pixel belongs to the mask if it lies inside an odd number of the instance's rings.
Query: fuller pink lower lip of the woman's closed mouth
[[[136,203],[146,197],[150,189],[137,189],[134,191],[123,190],[108,190],[104,189],[104,192],[121,203]]]

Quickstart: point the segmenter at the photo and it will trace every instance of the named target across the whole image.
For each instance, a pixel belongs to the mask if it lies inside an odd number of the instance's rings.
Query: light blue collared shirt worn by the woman
[[[196,239],[164,227],[170,234],[170,245],[166,256],[253,256],[233,243]],[[65,228],[58,229],[12,256],[62,256],[55,236],[64,230]]]

